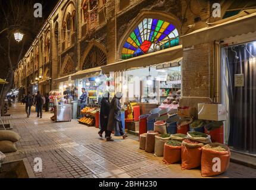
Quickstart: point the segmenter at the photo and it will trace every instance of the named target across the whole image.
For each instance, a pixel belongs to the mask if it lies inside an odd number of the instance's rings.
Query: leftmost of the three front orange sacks
[[[164,159],[167,164],[174,164],[180,162],[181,152],[180,147],[174,147],[172,145],[164,144]]]

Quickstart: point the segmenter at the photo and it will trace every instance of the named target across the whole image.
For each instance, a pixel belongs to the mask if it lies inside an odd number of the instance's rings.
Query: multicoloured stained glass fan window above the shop
[[[129,59],[179,45],[179,33],[173,24],[145,18],[124,43],[122,59]]]

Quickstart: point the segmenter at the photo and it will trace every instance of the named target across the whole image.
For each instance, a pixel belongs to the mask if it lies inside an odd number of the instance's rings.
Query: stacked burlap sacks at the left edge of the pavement
[[[0,151],[2,153],[13,153],[17,151],[15,144],[20,140],[20,135],[13,131],[0,131]]]

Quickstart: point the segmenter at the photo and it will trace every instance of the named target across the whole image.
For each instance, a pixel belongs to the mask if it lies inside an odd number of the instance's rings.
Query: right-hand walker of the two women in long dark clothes
[[[120,92],[117,92],[111,101],[110,104],[110,116],[108,118],[108,126],[107,126],[107,132],[106,137],[107,141],[114,141],[111,138],[111,132],[115,129],[120,132],[120,135],[123,136],[123,139],[127,137],[126,134],[124,134],[123,128],[122,128],[122,122],[121,122],[121,103],[120,99],[123,97],[123,94]]]

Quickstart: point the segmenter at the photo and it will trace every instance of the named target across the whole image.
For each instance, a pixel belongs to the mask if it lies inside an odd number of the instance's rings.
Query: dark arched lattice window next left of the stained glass
[[[93,53],[92,51],[98,51],[98,53]],[[90,59],[89,56],[92,56],[93,58]],[[86,51],[83,53],[81,62],[80,62],[80,69],[88,69],[88,67],[85,66],[86,62],[88,62],[90,59],[91,67],[96,66],[102,66],[107,64],[107,50],[104,45],[102,45],[101,42],[98,42],[97,40],[92,40],[89,43],[89,46],[86,48]],[[94,59],[94,60],[93,60]]]

